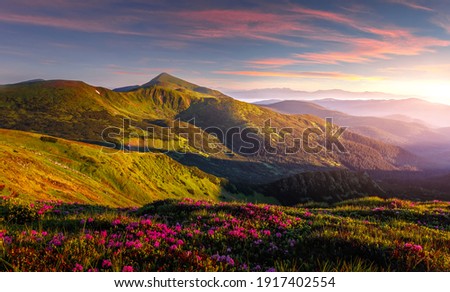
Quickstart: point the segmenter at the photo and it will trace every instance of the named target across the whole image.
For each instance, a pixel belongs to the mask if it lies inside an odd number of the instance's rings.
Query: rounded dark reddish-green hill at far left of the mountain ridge
[[[62,80],[1,86],[0,125],[95,139],[108,125],[121,123],[112,104],[97,91],[83,82]]]

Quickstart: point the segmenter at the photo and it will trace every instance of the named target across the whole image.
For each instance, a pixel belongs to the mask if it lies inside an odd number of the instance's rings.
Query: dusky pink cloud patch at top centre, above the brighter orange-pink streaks
[[[343,14],[299,6],[280,12],[247,10],[200,10],[173,12],[164,16],[174,19],[178,26],[186,27],[182,39],[250,38],[275,42],[288,46],[305,47],[301,41],[291,38],[330,40],[336,31],[311,22],[326,20],[360,29],[362,23]],[[161,15],[159,15],[161,16]]]

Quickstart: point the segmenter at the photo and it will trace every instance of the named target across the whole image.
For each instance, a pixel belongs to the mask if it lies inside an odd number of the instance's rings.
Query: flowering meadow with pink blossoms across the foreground
[[[450,204],[0,199],[0,271],[450,271]]]

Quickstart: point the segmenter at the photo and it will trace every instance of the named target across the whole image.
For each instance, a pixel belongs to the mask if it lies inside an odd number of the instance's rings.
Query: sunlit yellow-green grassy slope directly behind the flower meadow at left
[[[136,206],[165,198],[217,200],[222,180],[163,154],[114,153],[99,146],[0,129],[0,185],[5,195]]]

